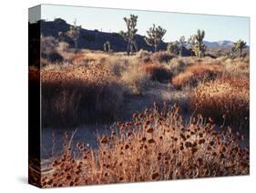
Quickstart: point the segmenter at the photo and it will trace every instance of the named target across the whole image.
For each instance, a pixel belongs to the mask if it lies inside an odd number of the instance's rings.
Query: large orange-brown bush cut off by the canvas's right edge
[[[249,95],[248,77],[223,76],[196,87],[189,104],[215,121],[248,127]]]

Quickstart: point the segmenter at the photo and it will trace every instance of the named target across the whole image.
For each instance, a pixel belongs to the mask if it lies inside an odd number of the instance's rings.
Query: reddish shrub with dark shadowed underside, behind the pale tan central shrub
[[[140,71],[144,71],[150,75],[151,80],[163,82],[169,80],[172,76],[171,72],[166,66],[157,64],[145,64],[139,67]]]

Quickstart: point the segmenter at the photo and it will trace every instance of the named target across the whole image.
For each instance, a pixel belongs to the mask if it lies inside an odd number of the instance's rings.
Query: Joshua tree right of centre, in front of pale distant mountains
[[[206,46],[203,44],[203,38],[205,36],[204,30],[198,29],[197,34],[189,38],[189,43],[192,46],[193,52],[196,56],[202,57],[206,51]]]

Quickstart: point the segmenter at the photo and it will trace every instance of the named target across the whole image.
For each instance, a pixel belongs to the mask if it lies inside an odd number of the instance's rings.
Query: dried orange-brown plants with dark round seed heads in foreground
[[[240,147],[231,129],[217,132],[204,118],[185,124],[179,107],[146,109],[131,122],[116,123],[98,148],[77,143],[74,156],[68,135],[64,154],[53,160],[50,172],[37,183],[63,187],[179,178],[249,174],[249,147]]]

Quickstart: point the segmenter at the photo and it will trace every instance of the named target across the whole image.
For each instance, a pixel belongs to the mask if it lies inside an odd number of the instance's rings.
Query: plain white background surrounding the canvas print
[[[48,3],[251,16],[251,175],[52,188],[55,192],[251,192],[255,188],[255,5],[253,0],[2,0],[0,5],[0,192],[35,192],[27,181],[27,9]],[[102,15],[104,19],[104,15]],[[227,30],[229,30],[227,28]],[[221,32],[220,32],[221,33]],[[253,184],[254,183],[254,184]],[[254,189],[255,191],[255,189]]]

